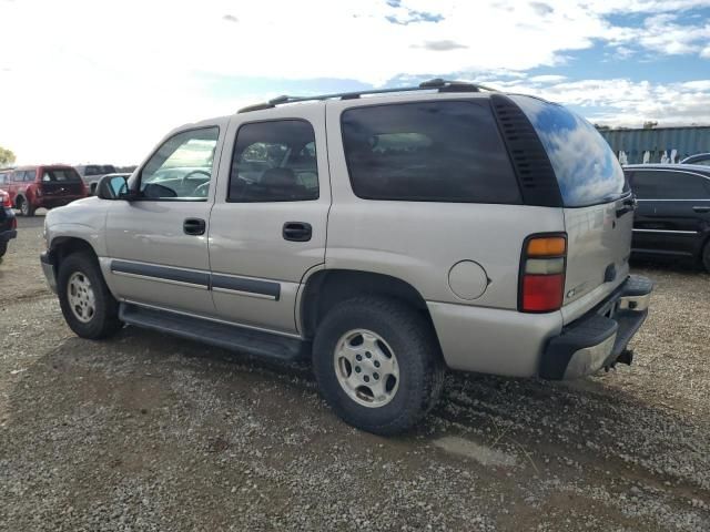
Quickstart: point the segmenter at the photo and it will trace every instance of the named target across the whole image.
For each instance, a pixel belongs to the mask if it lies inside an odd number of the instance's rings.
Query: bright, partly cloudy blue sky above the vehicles
[[[0,0],[0,20],[20,162],[138,163],[248,103],[434,76],[596,123],[710,124],[710,0]]]

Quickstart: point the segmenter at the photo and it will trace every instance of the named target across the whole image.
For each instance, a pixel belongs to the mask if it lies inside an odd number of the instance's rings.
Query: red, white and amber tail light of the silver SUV
[[[531,235],[526,238],[520,260],[519,309],[523,313],[550,313],[562,306],[567,235]]]

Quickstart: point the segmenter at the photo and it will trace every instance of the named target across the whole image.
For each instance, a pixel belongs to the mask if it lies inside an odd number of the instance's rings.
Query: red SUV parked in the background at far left
[[[51,164],[0,171],[0,190],[10,195],[22,216],[38,208],[61,207],[87,196],[87,187],[72,166]]]

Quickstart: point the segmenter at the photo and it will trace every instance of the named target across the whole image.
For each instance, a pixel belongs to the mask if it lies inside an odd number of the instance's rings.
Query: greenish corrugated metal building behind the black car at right
[[[710,153],[710,125],[687,127],[653,127],[651,130],[600,130],[613,153],[626,154],[628,164],[643,162],[643,154],[649,152],[650,163],[660,163],[663,154],[671,157],[676,151],[676,160]]]

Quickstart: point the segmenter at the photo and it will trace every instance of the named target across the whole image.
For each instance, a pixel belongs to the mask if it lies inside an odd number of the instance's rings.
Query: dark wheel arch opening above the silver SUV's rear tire
[[[298,310],[303,335],[313,338],[318,324],[331,308],[357,296],[384,296],[404,301],[420,311],[436,334],[426,300],[406,280],[373,272],[321,269],[307,278],[301,297]]]

